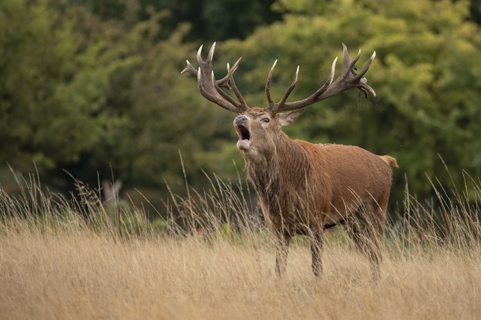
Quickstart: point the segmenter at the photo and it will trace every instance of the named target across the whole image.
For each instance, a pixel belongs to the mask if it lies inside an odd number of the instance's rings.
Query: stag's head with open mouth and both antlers
[[[269,72],[269,75],[267,76],[267,82],[265,86],[268,103],[267,107],[249,108],[245,102],[245,99],[240,94],[236,83],[234,82],[234,72],[238,68],[240,58],[236,61],[232,68],[227,63],[227,75],[225,75],[225,77],[220,80],[215,79],[214,72],[212,71],[212,58],[214,56],[215,45],[216,44],[214,42],[214,45],[212,45],[210,48],[208,57],[205,61],[203,61],[201,58],[201,46],[197,52],[199,69],[194,69],[194,67],[187,60],[187,68],[184,69],[182,73],[190,72],[194,75],[197,75],[199,91],[206,99],[218,104],[222,108],[238,114],[236,119],[234,119],[234,127],[236,128],[239,136],[237,147],[243,152],[244,156],[250,160],[254,160],[254,162],[258,160],[258,157],[261,154],[265,154],[266,152],[268,153],[275,148],[277,140],[283,135],[281,131],[282,127],[284,125],[290,125],[296,119],[298,119],[298,116],[304,112],[303,108],[311,106],[313,103],[322,101],[350,88],[359,88],[361,92],[365,94],[366,98],[368,97],[368,93],[372,93],[374,97],[376,96],[374,90],[368,86],[367,79],[363,77],[372,64],[372,61],[376,56],[376,52],[374,51],[374,53],[372,53],[370,60],[366,66],[364,66],[361,72],[355,73],[355,63],[357,60],[359,60],[359,56],[361,56],[361,50],[359,49],[359,53],[357,53],[356,58],[351,60],[348,55],[346,45],[343,43],[344,69],[341,75],[339,75],[334,82],[333,79],[337,58],[335,58],[331,66],[331,73],[328,79],[323,86],[313,93],[313,95],[300,101],[287,102],[289,95],[298,81],[298,66],[291,86],[289,86],[286,93],[284,93],[282,99],[276,103],[272,99],[270,90],[271,78],[277,63],[276,60],[271,68],[271,71]],[[231,95],[227,94],[222,88],[232,90],[237,100]]]

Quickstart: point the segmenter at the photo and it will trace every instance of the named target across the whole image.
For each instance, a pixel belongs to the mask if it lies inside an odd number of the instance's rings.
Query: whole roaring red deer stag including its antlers
[[[353,242],[366,254],[379,272],[381,238],[392,182],[390,166],[397,167],[390,156],[377,156],[364,149],[348,145],[313,144],[292,140],[281,131],[304,112],[304,107],[324,100],[350,88],[359,88],[368,97],[374,90],[366,84],[366,74],[376,53],[364,68],[355,73],[344,47],[344,70],[333,82],[335,58],[326,83],[311,97],[287,102],[297,80],[298,70],[291,86],[282,99],[275,103],[270,92],[274,62],[267,77],[265,91],[267,108],[249,108],[234,82],[238,62],[227,64],[227,75],[216,80],[212,71],[214,45],[207,60],[201,58],[202,46],[197,53],[199,70],[187,60],[182,71],[197,75],[200,93],[222,108],[238,114],[234,127],[239,136],[237,147],[245,160],[245,170],[254,185],[260,206],[269,217],[276,236],[276,274],[284,273],[287,265],[289,241],[295,234],[304,234],[311,242],[312,269],[322,272],[321,251],[324,230],[342,225]],[[225,90],[233,90],[237,100]],[[298,110],[300,109],[300,110]],[[287,110],[294,110],[284,112]],[[281,113],[282,112],[282,113]]]

